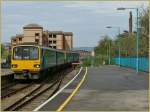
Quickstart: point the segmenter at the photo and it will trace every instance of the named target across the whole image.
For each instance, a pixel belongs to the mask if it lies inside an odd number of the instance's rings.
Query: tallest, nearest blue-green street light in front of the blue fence
[[[126,9],[134,9],[136,10],[136,28],[137,28],[137,34],[136,34],[136,72],[138,73],[139,71],[139,9],[138,8],[124,8],[124,7],[120,7],[117,8],[117,10],[126,10]]]

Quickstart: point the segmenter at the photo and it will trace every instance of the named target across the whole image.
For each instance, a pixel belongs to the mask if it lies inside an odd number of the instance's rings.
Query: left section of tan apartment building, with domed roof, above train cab
[[[23,27],[23,34],[17,34],[11,38],[11,45],[22,43],[34,43],[47,46],[47,37],[43,33],[43,27],[38,24],[28,24]]]

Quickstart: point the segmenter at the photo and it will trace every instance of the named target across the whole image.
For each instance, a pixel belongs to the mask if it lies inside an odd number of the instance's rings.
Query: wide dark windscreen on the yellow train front
[[[37,60],[38,48],[34,46],[18,46],[13,49],[14,60]]]

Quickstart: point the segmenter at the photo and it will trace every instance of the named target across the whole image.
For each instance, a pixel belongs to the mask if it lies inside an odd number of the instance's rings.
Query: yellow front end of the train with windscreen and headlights
[[[34,45],[18,45],[12,48],[11,70],[15,79],[39,79],[40,48]]]

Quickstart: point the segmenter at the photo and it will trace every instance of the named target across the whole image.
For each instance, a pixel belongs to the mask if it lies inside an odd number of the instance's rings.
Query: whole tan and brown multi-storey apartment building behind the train
[[[72,32],[43,31],[43,27],[38,24],[28,24],[23,27],[23,34],[11,38],[11,45],[33,43],[69,51],[73,46],[72,38]]]

